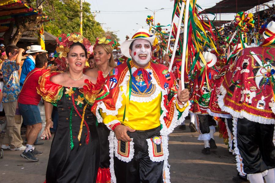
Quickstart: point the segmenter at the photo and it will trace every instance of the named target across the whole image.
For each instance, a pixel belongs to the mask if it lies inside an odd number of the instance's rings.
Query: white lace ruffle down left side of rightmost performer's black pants
[[[240,156],[240,152],[238,149],[238,144],[237,144],[237,118],[233,117],[233,142],[234,142],[234,152],[235,152],[235,157],[236,157],[236,165],[237,165],[237,170],[240,173],[240,175],[245,176],[246,173],[244,172],[244,164],[242,162],[243,158]]]

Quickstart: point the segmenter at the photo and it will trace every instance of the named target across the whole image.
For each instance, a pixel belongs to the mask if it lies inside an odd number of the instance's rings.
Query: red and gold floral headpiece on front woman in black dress
[[[56,38],[57,42],[57,48],[56,48],[56,63],[58,66],[58,70],[65,71],[67,69],[66,67],[66,59],[68,52],[70,52],[71,45],[74,43],[82,43],[86,50],[87,50],[87,58],[89,57],[89,54],[91,53],[91,44],[90,41],[87,38],[84,38],[80,33],[74,32],[71,34],[60,34]]]

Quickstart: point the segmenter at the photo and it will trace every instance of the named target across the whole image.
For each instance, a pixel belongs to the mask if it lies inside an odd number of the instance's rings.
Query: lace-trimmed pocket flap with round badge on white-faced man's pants
[[[160,162],[165,159],[163,146],[166,146],[167,139],[163,136],[156,136],[146,139],[148,143],[148,153],[151,161]],[[167,147],[166,147],[167,149]]]

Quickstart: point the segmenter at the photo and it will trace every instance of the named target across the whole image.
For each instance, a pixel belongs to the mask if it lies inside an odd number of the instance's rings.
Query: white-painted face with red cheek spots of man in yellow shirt
[[[146,65],[151,59],[150,42],[144,39],[137,39],[133,43],[131,52],[132,59],[140,65]]]

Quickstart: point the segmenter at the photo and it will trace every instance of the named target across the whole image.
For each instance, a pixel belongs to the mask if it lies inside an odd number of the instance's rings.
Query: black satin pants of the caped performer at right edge
[[[274,124],[260,124],[246,118],[237,121],[237,147],[244,172],[256,174],[275,168]]]

